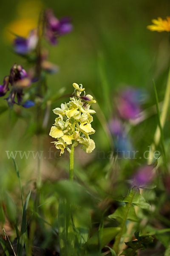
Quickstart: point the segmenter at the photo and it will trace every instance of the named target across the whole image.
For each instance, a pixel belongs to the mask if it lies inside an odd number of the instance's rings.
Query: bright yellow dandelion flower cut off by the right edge
[[[147,29],[150,29],[151,31],[158,31],[163,32],[167,31],[170,32],[170,17],[167,17],[166,20],[162,20],[162,18],[153,19],[152,20],[153,25],[147,26]]]

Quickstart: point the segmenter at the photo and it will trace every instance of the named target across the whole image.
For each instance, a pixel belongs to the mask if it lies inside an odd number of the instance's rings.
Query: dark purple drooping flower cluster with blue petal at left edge
[[[11,67],[9,76],[6,76],[4,78],[3,85],[0,85],[0,96],[4,96],[6,94],[9,90],[9,84],[11,84],[11,92],[6,98],[9,107],[12,107],[14,104],[23,105],[25,108],[33,106],[31,101],[27,101],[22,104],[24,96],[23,89],[31,85],[31,79],[21,65],[14,64]],[[17,102],[15,102],[15,97],[17,98]]]

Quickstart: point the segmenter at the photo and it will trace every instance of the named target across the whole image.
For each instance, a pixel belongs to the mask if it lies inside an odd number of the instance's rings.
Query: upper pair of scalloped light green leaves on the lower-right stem
[[[129,195],[127,195],[125,197],[115,198],[115,200],[119,201],[119,202],[129,203],[131,201],[132,197],[133,197],[133,189],[130,189]],[[148,204],[145,201],[144,197],[142,195],[140,195],[139,189],[137,190],[135,196],[133,197],[132,203],[139,206],[142,209],[150,209],[150,204]]]

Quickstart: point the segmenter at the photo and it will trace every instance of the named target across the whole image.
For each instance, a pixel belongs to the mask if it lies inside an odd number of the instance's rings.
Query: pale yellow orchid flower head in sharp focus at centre
[[[91,114],[96,112],[90,109],[90,106],[96,101],[89,94],[85,96],[85,88],[82,84],[74,83],[73,87],[75,90],[70,101],[61,104],[61,108],[53,110],[58,117],[51,127],[50,136],[57,139],[54,144],[61,150],[60,155],[64,153],[65,148],[70,151],[69,145],[75,147],[80,143],[87,153],[91,153],[95,148],[95,143],[89,135],[95,132],[91,126],[93,122]],[[80,96],[82,92],[84,96]]]

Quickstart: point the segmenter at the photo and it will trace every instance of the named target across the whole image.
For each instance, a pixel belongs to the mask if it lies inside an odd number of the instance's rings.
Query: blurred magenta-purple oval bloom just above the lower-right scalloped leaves
[[[154,170],[150,165],[142,166],[133,177],[133,186],[147,186],[154,178]]]

